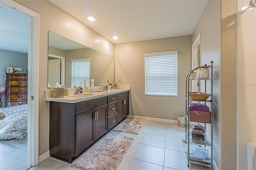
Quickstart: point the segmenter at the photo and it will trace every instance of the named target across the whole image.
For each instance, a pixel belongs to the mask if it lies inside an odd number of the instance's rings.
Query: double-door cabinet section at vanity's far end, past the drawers
[[[118,93],[117,101],[117,123],[129,115],[129,92]]]

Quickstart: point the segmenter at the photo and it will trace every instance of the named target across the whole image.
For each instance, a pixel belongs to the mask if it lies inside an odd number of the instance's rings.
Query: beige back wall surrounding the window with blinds
[[[185,79],[191,69],[192,36],[115,45],[115,83],[130,84],[130,115],[176,120],[185,114]],[[144,53],[178,50],[178,97],[146,96]],[[161,83],[161,82],[159,82]]]

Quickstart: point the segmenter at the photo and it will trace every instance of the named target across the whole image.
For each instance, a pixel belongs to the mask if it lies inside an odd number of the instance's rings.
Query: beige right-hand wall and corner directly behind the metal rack
[[[214,61],[213,158],[219,169],[236,169],[235,0],[209,0],[193,42],[201,32],[202,64]]]

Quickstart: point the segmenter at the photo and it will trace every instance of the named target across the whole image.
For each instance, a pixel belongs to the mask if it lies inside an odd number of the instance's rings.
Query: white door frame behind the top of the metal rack
[[[197,47],[200,46],[200,55],[201,55],[201,33],[198,34],[196,40],[192,44],[192,62],[191,62],[191,69],[195,69],[198,67],[198,57],[197,57]],[[199,64],[201,65],[201,56],[199,57]],[[191,90],[198,91],[197,81],[192,81]]]

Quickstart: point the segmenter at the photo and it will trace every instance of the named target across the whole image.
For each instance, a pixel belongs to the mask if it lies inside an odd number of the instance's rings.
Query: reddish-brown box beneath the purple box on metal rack
[[[189,111],[189,119],[192,122],[211,123],[211,112]]]

